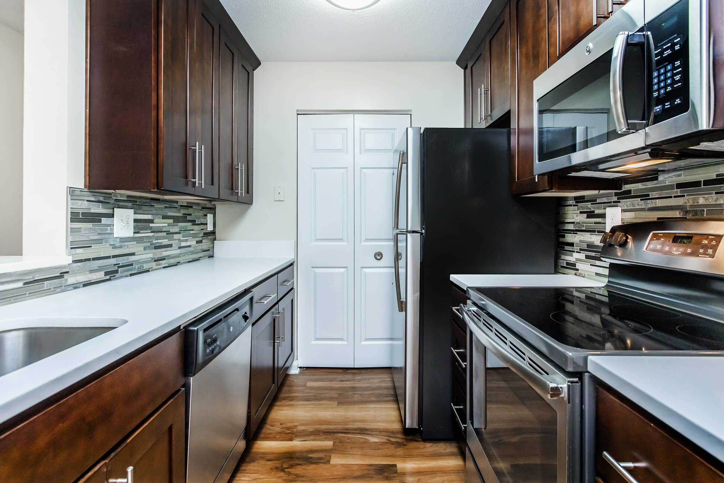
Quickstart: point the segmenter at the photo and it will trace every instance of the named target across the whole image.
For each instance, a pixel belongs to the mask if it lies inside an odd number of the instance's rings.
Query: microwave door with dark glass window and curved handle
[[[630,1],[536,78],[534,175],[649,150],[644,25],[644,1]]]

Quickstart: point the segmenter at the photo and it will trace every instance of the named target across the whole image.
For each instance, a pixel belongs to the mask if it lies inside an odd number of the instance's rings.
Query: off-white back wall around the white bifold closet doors
[[[412,112],[413,126],[463,127],[454,62],[264,62],[254,72],[254,202],[216,207],[218,240],[297,235],[298,110]],[[274,186],[285,201],[274,201]]]

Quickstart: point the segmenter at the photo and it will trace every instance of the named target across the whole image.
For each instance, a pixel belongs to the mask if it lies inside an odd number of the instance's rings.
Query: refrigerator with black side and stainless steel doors
[[[510,194],[508,129],[409,127],[394,156],[392,377],[403,426],[452,439],[450,274],[553,273],[557,202]]]

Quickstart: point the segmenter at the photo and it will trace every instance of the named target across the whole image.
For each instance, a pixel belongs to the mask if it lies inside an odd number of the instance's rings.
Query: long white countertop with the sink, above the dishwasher
[[[291,246],[293,253],[293,243]],[[36,321],[47,326],[51,317],[101,317],[127,322],[0,377],[0,421],[180,327],[292,261],[293,256],[215,257],[1,306],[0,330],[28,327]]]

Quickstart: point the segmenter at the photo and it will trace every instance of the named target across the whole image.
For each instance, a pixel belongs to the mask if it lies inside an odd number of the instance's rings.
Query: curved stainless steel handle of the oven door
[[[518,374],[518,376],[528,382],[529,385],[536,390],[536,392],[548,399],[565,397],[566,387],[568,386],[568,381],[565,378],[556,377],[556,374],[549,374],[548,377],[539,374],[532,367],[528,366],[528,364],[521,361],[521,359],[517,356],[513,356],[508,348],[503,347],[500,343],[487,335],[478,326],[478,324],[473,321],[473,316],[471,316],[470,311],[468,311],[463,304],[460,304],[460,313],[463,314],[463,319],[468,325],[468,328],[471,332],[473,332],[473,335],[480,340],[485,348],[487,348],[487,350],[489,350],[495,357],[499,358],[503,364],[508,366],[510,369],[513,369],[515,374]]]

